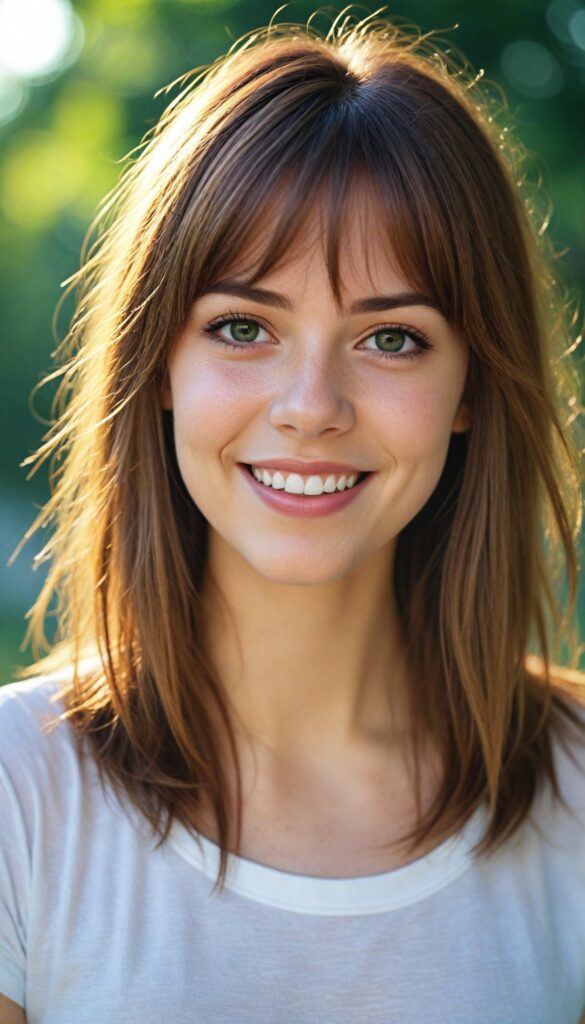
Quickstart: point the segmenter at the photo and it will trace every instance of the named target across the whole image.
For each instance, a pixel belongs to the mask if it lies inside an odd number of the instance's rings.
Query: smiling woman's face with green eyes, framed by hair
[[[234,268],[198,298],[169,360],[164,406],[209,550],[219,546],[232,566],[236,556],[278,583],[325,583],[382,549],[390,557],[440,479],[452,432],[468,425],[465,341],[420,297],[396,300],[413,289],[377,241],[375,216],[353,209],[340,251],[342,308],[309,227],[255,293]],[[217,323],[229,315],[234,323]],[[243,468],[291,458],[371,475],[335,511],[291,514],[268,504]],[[302,475],[337,482],[342,474]],[[282,486],[270,495],[282,498]],[[320,499],[292,505],[311,502]]]

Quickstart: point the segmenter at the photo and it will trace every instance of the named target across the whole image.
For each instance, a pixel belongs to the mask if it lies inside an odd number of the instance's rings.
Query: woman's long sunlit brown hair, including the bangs
[[[159,845],[175,819],[197,836],[207,796],[219,888],[240,849],[238,753],[201,626],[207,522],[181,481],[161,389],[193,302],[258,227],[270,230],[252,282],[324,214],[339,296],[344,211],[364,182],[405,275],[470,349],[471,428],[452,435],[435,490],[398,538],[413,734],[430,730],[445,758],[435,802],[424,817],[417,803],[403,841],[438,842],[487,802],[487,853],[545,778],[562,800],[552,739],[583,724],[585,702],[574,635],[579,339],[542,193],[505,97],[479,79],[433,34],[378,16],[344,12],[327,34],[310,24],[250,33],[179,80],[67,283],[78,294],[47,377],[61,376],[54,422],[29,460],[51,460],[52,487],[26,536],[52,530],[30,612],[36,662],[22,674],[67,669],[54,723],[90,743],[102,782],[139,808]]]

